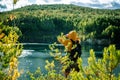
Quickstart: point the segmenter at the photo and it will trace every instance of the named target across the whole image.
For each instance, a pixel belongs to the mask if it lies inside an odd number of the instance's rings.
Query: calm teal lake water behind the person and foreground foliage
[[[34,72],[38,67],[41,68],[42,73],[46,73],[44,66],[46,65],[45,61],[52,61],[54,58],[50,56],[49,44],[24,44],[24,49],[19,57],[19,69],[23,70],[19,80],[26,80],[28,76],[26,75],[27,71]],[[104,46],[91,46],[91,45],[82,45],[82,55],[83,66],[87,65],[87,58],[89,57],[89,50],[94,49],[96,52],[96,57],[102,57],[102,51]],[[62,47],[61,47],[62,49]],[[65,55],[65,53],[63,53]],[[56,70],[59,72],[60,64],[58,61],[55,61]]]

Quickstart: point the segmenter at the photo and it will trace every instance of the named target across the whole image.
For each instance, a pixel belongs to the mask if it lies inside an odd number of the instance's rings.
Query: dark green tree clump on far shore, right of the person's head
[[[109,31],[109,33],[108,33],[108,28],[110,26],[114,26],[114,28],[116,27],[116,29],[114,29],[112,32],[114,32],[114,31],[116,32],[117,30],[120,30],[120,28],[119,28],[120,24],[118,23],[119,21],[120,21],[119,16],[112,16],[112,15],[111,16],[98,16],[97,18],[94,18],[93,20],[89,19],[87,24],[82,25],[82,26],[85,27],[84,31],[87,33],[87,35],[94,33],[94,35],[93,35],[94,38],[109,39],[111,36],[111,34],[110,34],[111,31]],[[84,22],[86,22],[86,21],[84,21]],[[84,22],[82,22],[82,24]],[[103,34],[103,33],[106,33],[106,34]],[[119,33],[119,32],[117,31],[117,33]],[[116,36],[116,34],[114,35],[114,38],[119,39]],[[112,41],[112,39],[110,39],[110,40]]]

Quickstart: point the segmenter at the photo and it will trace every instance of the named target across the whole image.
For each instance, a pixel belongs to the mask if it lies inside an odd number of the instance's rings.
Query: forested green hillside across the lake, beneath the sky
[[[0,13],[5,25],[18,26],[20,42],[54,42],[61,33],[75,29],[82,40],[107,39],[120,44],[120,10],[75,5],[31,5]],[[15,25],[13,25],[15,23]]]

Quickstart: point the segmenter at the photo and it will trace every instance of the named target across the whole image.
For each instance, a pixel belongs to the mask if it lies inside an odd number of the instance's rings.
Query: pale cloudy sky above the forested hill
[[[12,3],[13,0],[0,0],[0,12],[12,10]],[[15,8],[32,4],[75,4],[92,8],[120,8],[120,0],[19,0],[16,3]]]

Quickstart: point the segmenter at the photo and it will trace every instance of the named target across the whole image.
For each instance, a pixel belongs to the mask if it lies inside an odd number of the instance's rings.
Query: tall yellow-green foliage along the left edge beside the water
[[[22,51],[22,45],[18,42],[19,34],[21,32],[17,27],[0,24],[0,79],[16,79],[18,77],[16,75],[18,73],[17,57]],[[14,69],[15,75],[14,72],[11,72]]]

